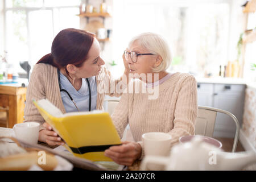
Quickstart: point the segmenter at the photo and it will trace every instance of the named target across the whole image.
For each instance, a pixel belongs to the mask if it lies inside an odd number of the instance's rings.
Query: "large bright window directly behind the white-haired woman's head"
[[[113,10],[115,53],[134,35],[150,31],[167,40],[171,72],[214,75],[228,61],[229,1],[123,0],[114,1]]]

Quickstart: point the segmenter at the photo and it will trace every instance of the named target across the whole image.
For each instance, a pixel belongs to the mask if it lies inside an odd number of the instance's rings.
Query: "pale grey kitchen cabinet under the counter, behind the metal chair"
[[[245,85],[197,84],[198,105],[216,107],[234,114],[242,124]],[[236,125],[228,115],[218,113],[214,127],[214,137],[233,138]]]

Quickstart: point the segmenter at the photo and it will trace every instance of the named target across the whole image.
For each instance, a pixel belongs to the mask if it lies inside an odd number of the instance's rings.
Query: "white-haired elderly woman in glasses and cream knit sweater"
[[[133,86],[132,93],[122,95],[112,119],[120,137],[129,124],[135,142],[112,146],[105,155],[118,164],[131,166],[134,160],[144,156],[142,134],[168,133],[172,136],[172,146],[181,136],[195,134],[197,83],[188,73],[166,71],[171,55],[167,43],[159,35],[147,32],[136,36],[123,56],[129,63],[130,75],[139,76],[130,85],[140,85]],[[138,93],[137,88],[155,89],[158,97],[150,99],[152,94]]]

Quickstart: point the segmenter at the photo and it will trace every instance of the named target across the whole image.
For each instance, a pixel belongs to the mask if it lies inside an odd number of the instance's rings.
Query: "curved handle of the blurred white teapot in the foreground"
[[[152,164],[162,164],[164,168],[167,169],[167,165],[170,163],[168,157],[166,156],[155,156],[155,155],[148,155],[146,156],[141,163],[141,170],[146,171],[148,170],[147,165],[148,163]]]

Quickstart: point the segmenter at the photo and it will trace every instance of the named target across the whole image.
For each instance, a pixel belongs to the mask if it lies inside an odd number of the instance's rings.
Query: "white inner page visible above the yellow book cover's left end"
[[[37,104],[42,107],[44,110],[47,111],[47,113],[51,114],[54,117],[61,118],[63,117],[63,113],[59,108],[57,108],[55,105],[53,105],[50,101],[47,99],[42,99],[40,101],[37,101]]]

